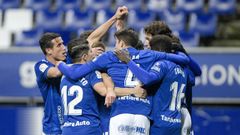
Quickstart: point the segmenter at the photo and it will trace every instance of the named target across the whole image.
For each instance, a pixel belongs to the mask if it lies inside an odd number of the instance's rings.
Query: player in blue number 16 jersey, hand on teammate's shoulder
[[[167,53],[176,52],[173,49],[171,38],[166,35],[157,35],[150,41],[152,49]],[[160,60],[154,63],[150,70],[138,67],[127,55],[117,51],[121,61],[128,64],[129,69],[146,86],[152,88],[157,85],[153,96],[151,126],[152,135],[180,135],[181,134],[181,104],[187,84],[187,73],[181,66]]]

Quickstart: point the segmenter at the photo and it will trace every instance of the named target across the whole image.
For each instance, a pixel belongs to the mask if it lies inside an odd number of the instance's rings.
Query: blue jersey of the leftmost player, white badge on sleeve
[[[60,96],[59,78],[48,78],[49,68],[54,67],[52,63],[43,59],[36,63],[35,73],[37,84],[44,101],[43,132],[45,134],[61,134],[62,108]]]

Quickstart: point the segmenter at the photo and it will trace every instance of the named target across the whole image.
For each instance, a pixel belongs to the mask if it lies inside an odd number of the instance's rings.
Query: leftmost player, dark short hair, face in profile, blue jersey
[[[61,36],[56,33],[43,34],[39,44],[45,59],[37,62],[34,68],[44,101],[43,134],[59,135],[63,121],[59,89],[62,74],[55,65],[66,59],[66,49]]]

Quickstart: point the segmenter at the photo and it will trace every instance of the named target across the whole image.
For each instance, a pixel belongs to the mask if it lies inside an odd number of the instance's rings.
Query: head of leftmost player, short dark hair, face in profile
[[[57,33],[44,33],[39,40],[42,52],[56,61],[66,59],[66,49],[61,36]]]

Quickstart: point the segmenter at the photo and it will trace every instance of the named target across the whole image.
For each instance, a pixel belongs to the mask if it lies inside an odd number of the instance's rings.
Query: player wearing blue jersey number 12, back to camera
[[[74,62],[72,67],[80,67],[92,59],[92,53],[87,44],[80,45],[79,40],[71,40],[69,45],[72,44],[76,44],[69,53]],[[108,82],[111,82],[111,80],[107,80]],[[63,135],[102,135],[94,90],[101,96],[105,96],[106,92],[113,91],[113,84],[110,87],[105,87],[105,84],[102,82],[100,72],[97,71],[77,80],[72,80],[65,76],[62,78],[61,94],[64,104]],[[121,88],[115,89],[118,91],[123,90]],[[135,91],[135,89],[130,90],[132,92]],[[127,93],[127,95],[135,94],[132,92]]]

